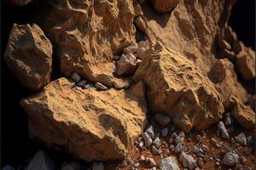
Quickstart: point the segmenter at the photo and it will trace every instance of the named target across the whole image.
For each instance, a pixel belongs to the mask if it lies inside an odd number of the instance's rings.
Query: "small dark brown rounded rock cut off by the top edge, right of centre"
[[[160,13],[166,13],[172,11],[177,6],[179,0],[150,0],[154,9]]]

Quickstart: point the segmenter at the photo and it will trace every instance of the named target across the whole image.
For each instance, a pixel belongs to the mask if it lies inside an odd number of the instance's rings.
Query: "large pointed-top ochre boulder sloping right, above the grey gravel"
[[[150,111],[170,115],[184,132],[207,128],[224,112],[212,82],[189,59],[159,43],[133,79],[146,83]]]

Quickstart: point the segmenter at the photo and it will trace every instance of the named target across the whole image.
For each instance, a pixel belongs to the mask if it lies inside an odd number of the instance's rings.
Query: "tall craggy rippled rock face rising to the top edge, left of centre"
[[[61,72],[113,86],[113,55],[135,41],[132,0],[49,1],[44,29],[55,42]]]

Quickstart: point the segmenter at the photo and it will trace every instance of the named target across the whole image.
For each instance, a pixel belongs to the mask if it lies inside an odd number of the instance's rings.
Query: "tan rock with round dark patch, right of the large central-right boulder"
[[[217,59],[212,64],[208,77],[215,83],[225,108],[228,107],[232,95],[236,96],[242,103],[247,102],[247,91],[237,81],[234,66],[229,59]]]

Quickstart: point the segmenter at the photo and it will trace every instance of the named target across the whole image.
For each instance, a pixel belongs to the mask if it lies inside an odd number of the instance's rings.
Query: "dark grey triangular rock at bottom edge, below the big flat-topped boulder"
[[[50,160],[49,156],[43,151],[38,151],[35,156],[32,157],[30,163],[26,167],[27,170],[54,170],[55,165]]]

